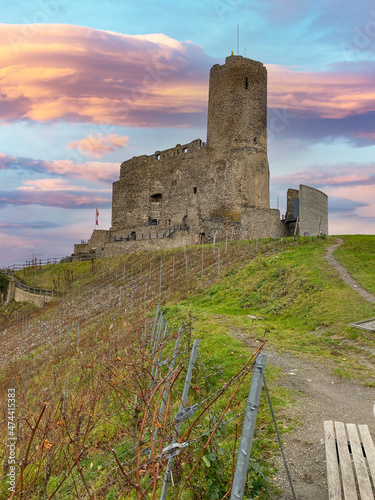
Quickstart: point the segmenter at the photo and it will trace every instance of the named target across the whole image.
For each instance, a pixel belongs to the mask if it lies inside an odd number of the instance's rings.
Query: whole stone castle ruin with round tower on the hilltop
[[[123,162],[113,183],[112,227],[75,245],[73,258],[328,233],[324,193],[289,189],[281,220],[270,208],[269,177],[267,70],[231,55],[210,71],[207,142],[196,139]]]

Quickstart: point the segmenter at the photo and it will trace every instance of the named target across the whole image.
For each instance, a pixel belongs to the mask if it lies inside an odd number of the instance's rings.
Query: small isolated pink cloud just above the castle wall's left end
[[[128,136],[93,134],[79,141],[70,142],[67,148],[78,149],[84,155],[101,158],[108,153],[113,153],[117,149],[124,148],[128,143]]]

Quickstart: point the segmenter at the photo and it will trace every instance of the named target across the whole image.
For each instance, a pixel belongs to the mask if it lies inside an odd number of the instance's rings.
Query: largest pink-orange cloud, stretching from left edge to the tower
[[[65,119],[131,126],[204,113],[212,60],[163,35],[70,25],[0,26],[4,120]],[[205,65],[207,69],[200,69]],[[159,110],[158,116],[148,113]]]

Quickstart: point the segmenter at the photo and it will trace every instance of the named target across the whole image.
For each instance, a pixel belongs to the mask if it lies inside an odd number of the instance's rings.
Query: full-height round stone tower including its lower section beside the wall
[[[228,157],[242,208],[269,208],[267,70],[262,63],[229,56],[210,72],[207,145]]]

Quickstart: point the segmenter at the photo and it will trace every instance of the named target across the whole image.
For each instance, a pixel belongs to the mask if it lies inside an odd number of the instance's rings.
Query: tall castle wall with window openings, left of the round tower
[[[197,226],[198,212],[208,207],[207,184],[212,187],[209,163],[199,139],[124,162],[113,185],[112,230],[145,226],[153,219],[177,225],[185,216]]]

